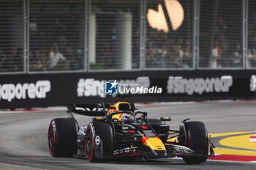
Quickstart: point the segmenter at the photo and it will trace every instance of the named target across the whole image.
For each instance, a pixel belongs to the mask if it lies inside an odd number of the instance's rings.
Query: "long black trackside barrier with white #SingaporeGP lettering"
[[[118,82],[118,93],[135,88],[137,93],[129,94],[135,102],[253,99],[255,75],[252,70],[0,75],[0,109],[113,102],[115,96],[105,94],[106,80]],[[147,93],[141,93],[144,88]]]

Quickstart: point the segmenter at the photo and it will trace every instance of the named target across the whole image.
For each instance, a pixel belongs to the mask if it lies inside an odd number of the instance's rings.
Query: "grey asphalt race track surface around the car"
[[[256,131],[256,101],[161,104],[138,107],[148,117],[172,117],[170,128],[178,129],[189,117],[206,124],[208,133]],[[53,158],[48,152],[50,120],[66,117],[64,111],[0,113],[0,169],[255,169],[256,163],[207,161],[187,165],[182,159],[162,158],[147,162],[89,163],[78,158]],[[91,117],[75,115],[80,125]]]

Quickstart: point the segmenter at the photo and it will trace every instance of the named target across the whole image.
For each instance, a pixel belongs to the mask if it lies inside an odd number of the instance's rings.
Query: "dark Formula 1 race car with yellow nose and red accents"
[[[72,112],[94,118],[89,125],[79,126]],[[211,136],[201,122],[186,119],[179,131],[170,130],[165,124],[170,117],[149,119],[147,112],[124,101],[70,104],[67,116],[50,121],[48,147],[54,157],[76,156],[90,162],[181,157],[186,163],[203,163],[214,157]]]

